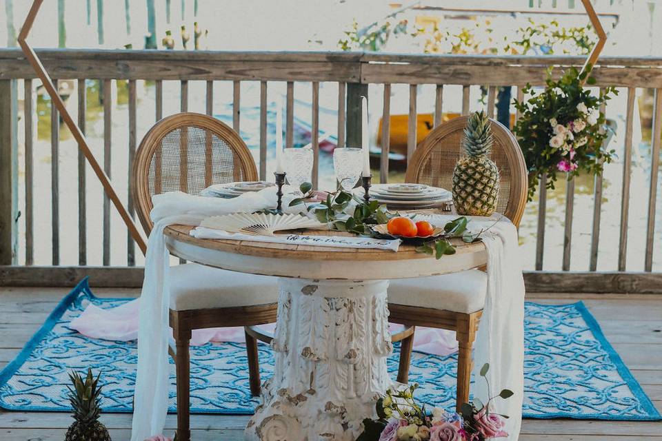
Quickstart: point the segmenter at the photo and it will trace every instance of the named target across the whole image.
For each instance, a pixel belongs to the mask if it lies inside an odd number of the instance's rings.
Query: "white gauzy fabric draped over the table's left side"
[[[292,200],[285,192],[283,206]],[[168,413],[168,289],[169,255],[163,229],[168,225],[200,225],[208,216],[255,212],[276,207],[273,188],[243,194],[233,199],[205,198],[182,192],[154,195],[150,214],[154,227],[145,257],[138,330],[138,372],[134,395],[131,441],[143,441],[163,432]],[[296,211],[299,211],[297,208]]]

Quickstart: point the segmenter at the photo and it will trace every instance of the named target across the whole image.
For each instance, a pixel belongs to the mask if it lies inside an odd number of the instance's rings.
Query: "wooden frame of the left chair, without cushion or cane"
[[[241,175],[245,181],[257,181],[257,167],[239,134],[234,132],[221,121],[212,116],[197,113],[180,113],[168,116],[154,125],[143,138],[136,152],[132,170],[132,196],[136,201],[136,212],[145,232],[149,235],[153,223],[150,220],[152,198],[150,196],[150,164],[152,157],[159,154],[159,147],[163,137],[177,129],[186,127],[199,127],[215,134],[230,145],[236,154],[237,163],[241,166]],[[211,145],[211,137],[207,141]],[[187,141],[182,140],[181,149],[188,148]],[[181,156],[188,155],[182,152]],[[205,153],[205,184],[210,183],[211,150]],[[186,168],[186,167],[185,167]],[[181,172],[180,187],[187,185],[188,170]],[[253,325],[263,325],[276,321],[277,303],[265,305],[251,305],[245,307],[225,307],[210,309],[187,309],[176,311],[170,309],[170,326],[173,329],[175,340],[174,350],[170,353],[175,361],[177,371],[177,440],[190,440],[190,340],[193,329],[211,327],[243,326],[246,337],[246,351],[248,353],[248,372],[250,378],[250,391],[258,396],[261,389],[257,340],[270,341],[267,336]]]

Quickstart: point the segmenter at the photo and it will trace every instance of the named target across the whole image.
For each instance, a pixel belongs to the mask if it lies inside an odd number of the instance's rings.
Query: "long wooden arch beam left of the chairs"
[[[74,136],[74,139],[78,141],[79,149],[81,149],[83,155],[92,166],[94,174],[96,174],[97,178],[99,178],[99,181],[101,181],[101,185],[103,185],[103,191],[106,192],[106,196],[108,196],[110,201],[112,201],[115,209],[117,209],[117,212],[119,212],[119,216],[121,216],[122,220],[126,224],[126,227],[129,229],[132,238],[136,241],[143,254],[145,254],[147,251],[145,239],[141,235],[139,229],[136,227],[136,224],[134,223],[133,218],[130,216],[126,207],[122,205],[119,197],[117,197],[117,192],[115,192],[115,189],[112,187],[110,179],[106,173],[103,172],[103,168],[101,165],[99,165],[97,158],[94,158],[94,154],[92,154],[92,150],[90,150],[90,146],[88,145],[88,141],[86,140],[85,135],[83,132],[81,132],[78,125],[72,119],[66,106],[64,105],[64,102],[57,93],[57,89],[50,79],[48,72],[46,72],[46,69],[43,67],[39,57],[37,57],[37,54],[34,53],[34,50],[32,50],[28,44],[28,41],[26,40],[28,38],[28,34],[30,34],[30,30],[32,29],[34,19],[37,17],[37,12],[39,12],[39,8],[41,8],[41,3],[43,3],[43,0],[34,0],[32,3],[30,11],[28,12],[28,16],[26,17],[26,21],[23,23],[23,28],[21,28],[21,32],[17,38],[19,45],[23,50],[23,54],[26,55],[26,58],[30,62],[30,65],[32,65],[34,72],[37,72],[37,76],[39,79],[41,79],[43,87],[46,88],[46,92],[48,92],[52,103],[55,105],[55,107],[57,107],[57,110],[59,111],[64,123],[67,125],[67,127],[69,127],[69,130]]]

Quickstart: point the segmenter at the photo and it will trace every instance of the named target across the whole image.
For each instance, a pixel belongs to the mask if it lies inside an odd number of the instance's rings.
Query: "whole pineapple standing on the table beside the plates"
[[[489,158],[492,149],[490,119],[481,110],[472,114],[462,142],[466,156],[453,170],[453,203],[457,214],[490,216],[499,198],[499,169]]]

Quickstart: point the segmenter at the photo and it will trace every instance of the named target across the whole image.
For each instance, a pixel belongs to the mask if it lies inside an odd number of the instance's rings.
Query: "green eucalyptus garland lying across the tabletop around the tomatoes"
[[[317,220],[321,223],[327,223],[337,231],[350,232],[363,237],[392,238],[392,236],[384,236],[374,232],[372,229],[372,225],[385,224],[391,218],[400,216],[398,212],[389,212],[386,205],[379,205],[378,201],[366,203],[362,198],[343,189],[335,193],[328,193],[324,201],[306,203],[306,201],[314,198],[312,185],[303,183],[299,189],[303,196],[293,199],[290,202],[290,207],[304,204],[308,212],[312,212]],[[353,212],[350,207],[352,202],[356,204]],[[435,258],[440,259],[442,256],[455,254],[455,247],[449,239],[461,238],[465,243],[472,243],[485,232],[486,229],[481,229],[477,233],[470,232],[467,229],[468,222],[468,218],[460,216],[444,225],[444,232],[441,236],[433,239],[412,238],[410,240],[417,244],[417,252],[434,255]]]

